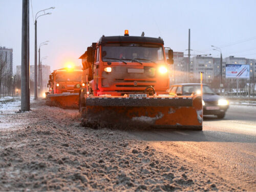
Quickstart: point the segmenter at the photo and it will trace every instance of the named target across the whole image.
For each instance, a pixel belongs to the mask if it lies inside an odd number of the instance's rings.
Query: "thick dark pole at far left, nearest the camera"
[[[22,3],[22,99],[21,111],[30,110],[29,94],[29,0]]]

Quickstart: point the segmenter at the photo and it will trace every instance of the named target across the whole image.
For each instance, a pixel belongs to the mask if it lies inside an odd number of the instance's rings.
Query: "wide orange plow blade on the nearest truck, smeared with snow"
[[[202,130],[200,96],[87,97],[83,117],[113,125]]]

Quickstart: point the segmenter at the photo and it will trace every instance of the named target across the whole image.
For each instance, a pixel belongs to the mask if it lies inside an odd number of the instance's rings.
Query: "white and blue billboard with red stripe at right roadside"
[[[226,78],[250,78],[249,65],[226,64]]]

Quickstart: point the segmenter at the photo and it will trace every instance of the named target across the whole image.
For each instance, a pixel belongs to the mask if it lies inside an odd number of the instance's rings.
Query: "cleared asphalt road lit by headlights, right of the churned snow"
[[[203,131],[142,131],[164,154],[175,155],[208,174],[256,190],[256,106],[230,105],[224,119],[204,117]]]

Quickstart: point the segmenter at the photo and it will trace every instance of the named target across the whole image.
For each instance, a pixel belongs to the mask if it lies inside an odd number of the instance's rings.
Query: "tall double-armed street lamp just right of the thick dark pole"
[[[55,9],[55,7],[50,7],[48,9]],[[36,100],[37,99],[37,19],[40,17],[40,16],[43,16],[43,15],[50,15],[51,13],[46,13],[45,11],[48,10],[48,9],[44,9],[44,10],[41,10],[41,11],[38,11],[35,15],[35,69],[34,69],[34,81],[35,81],[35,86],[34,86],[34,99]],[[44,12],[44,14],[41,14],[41,15],[38,15],[38,13],[40,12]]]

